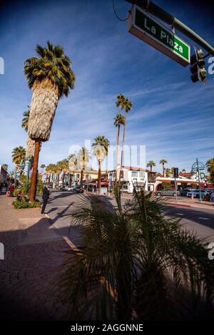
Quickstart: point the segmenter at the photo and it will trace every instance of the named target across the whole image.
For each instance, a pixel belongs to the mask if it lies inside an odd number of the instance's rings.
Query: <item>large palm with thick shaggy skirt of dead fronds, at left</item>
[[[36,53],[38,58],[28,58],[24,63],[26,80],[33,91],[28,128],[29,137],[35,140],[30,201],[34,201],[36,196],[40,143],[49,140],[58,100],[68,96],[75,82],[71,60],[62,46],[54,46],[48,41],[47,47],[37,45]]]

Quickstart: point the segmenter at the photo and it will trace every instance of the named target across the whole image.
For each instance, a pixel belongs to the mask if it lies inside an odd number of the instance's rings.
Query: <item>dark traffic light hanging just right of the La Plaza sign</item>
[[[190,57],[190,71],[193,73],[191,76],[193,83],[196,83],[196,81],[203,81],[205,83],[207,71],[205,70],[205,61],[203,58],[203,51],[195,48],[194,55]]]

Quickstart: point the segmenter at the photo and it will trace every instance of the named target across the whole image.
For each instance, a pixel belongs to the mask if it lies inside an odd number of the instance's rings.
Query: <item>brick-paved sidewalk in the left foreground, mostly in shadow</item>
[[[68,306],[58,299],[58,277],[70,247],[57,232],[50,232],[49,219],[39,208],[15,210],[13,200],[0,195],[0,242],[4,244],[0,319],[68,319]]]

